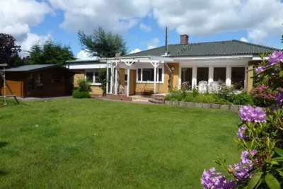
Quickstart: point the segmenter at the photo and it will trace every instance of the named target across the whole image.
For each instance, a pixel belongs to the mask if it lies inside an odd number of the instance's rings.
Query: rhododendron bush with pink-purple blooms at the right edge
[[[221,169],[204,170],[201,184],[205,189],[283,188],[283,52],[273,52],[269,61],[262,55],[257,77],[266,85],[251,93],[262,96],[268,108],[242,106],[238,138],[241,161],[226,165],[225,159],[215,162]]]

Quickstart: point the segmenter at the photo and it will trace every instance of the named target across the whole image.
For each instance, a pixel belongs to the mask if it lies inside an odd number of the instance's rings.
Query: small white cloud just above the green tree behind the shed
[[[17,45],[21,45],[20,56],[25,57],[28,55],[30,47],[35,45],[37,42],[42,45],[47,40],[52,40],[52,35],[36,35],[35,33],[27,33],[27,38],[23,39],[22,42],[16,42]]]

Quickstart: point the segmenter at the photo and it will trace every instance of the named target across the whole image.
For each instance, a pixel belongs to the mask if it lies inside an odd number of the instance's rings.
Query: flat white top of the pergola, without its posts
[[[171,57],[158,57],[158,56],[133,56],[133,57],[112,57],[100,59],[102,62],[113,63],[113,62],[174,62]]]

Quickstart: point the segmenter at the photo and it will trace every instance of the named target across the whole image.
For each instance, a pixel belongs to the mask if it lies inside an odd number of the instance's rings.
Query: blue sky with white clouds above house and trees
[[[243,40],[282,47],[283,0],[0,0],[0,33],[13,35],[22,50],[52,38],[81,50],[77,31],[102,26],[119,33],[129,52],[169,44],[180,34],[189,42]],[[24,53],[24,52],[23,52]]]

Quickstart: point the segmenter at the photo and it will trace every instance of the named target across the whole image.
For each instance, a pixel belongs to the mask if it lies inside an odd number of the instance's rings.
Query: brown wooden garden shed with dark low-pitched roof
[[[35,64],[5,70],[8,86],[16,96],[50,97],[71,94],[74,72],[55,64]],[[4,81],[0,78],[0,93],[4,96]],[[11,95],[6,88],[6,95]]]

